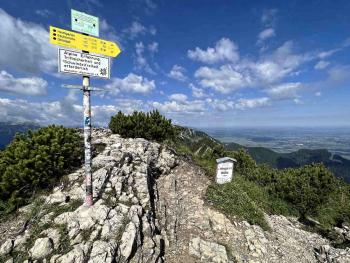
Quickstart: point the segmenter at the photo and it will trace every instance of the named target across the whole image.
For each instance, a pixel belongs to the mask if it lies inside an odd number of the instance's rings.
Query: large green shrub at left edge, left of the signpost
[[[26,203],[40,189],[80,166],[82,138],[74,129],[49,126],[17,135],[0,153],[0,213]]]

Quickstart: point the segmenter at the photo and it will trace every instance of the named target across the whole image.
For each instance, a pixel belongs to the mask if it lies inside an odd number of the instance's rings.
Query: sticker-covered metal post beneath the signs
[[[83,106],[84,106],[84,148],[85,148],[85,205],[92,206],[92,174],[91,174],[91,105],[90,78],[83,76]]]

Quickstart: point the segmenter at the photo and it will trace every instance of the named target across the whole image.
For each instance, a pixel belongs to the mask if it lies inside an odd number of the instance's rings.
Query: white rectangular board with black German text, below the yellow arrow
[[[107,57],[67,49],[59,49],[58,53],[58,70],[61,73],[110,78],[110,60]]]

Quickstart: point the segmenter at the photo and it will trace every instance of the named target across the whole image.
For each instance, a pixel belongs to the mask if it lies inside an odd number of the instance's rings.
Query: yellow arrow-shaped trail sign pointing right
[[[120,48],[114,42],[53,26],[50,26],[50,43],[110,57],[116,57],[120,53]]]

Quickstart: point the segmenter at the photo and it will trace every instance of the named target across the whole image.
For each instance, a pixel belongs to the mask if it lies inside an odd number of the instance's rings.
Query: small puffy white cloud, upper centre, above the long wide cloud
[[[238,47],[228,38],[220,39],[214,48],[208,47],[207,50],[202,50],[196,47],[195,50],[188,50],[187,55],[190,59],[208,64],[223,61],[235,62],[239,59]]]

